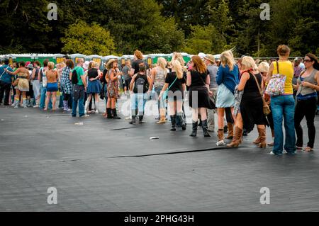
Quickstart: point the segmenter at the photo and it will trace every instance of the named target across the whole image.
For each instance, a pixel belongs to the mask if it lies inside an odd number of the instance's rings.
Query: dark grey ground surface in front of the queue
[[[256,129],[226,149],[216,147],[216,132],[207,138],[198,128],[193,138],[190,125],[171,132],[145,118],[129,125],[123,115],[0,106],[0,211],[319,210],[318,134],[314,152],[276,157],[252,145]],[[303,128],[306,145],[305,120]],[[56,205],[47,203],[50,187]],[[260,203],[263,187],[270,204]]]

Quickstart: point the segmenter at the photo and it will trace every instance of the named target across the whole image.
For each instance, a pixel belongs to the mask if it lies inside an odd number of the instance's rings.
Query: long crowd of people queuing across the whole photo
[[[157,124],[167,123],[169,116],[170,130],[186,130],[184,102],[188,101],[191,137],[197,136],[199,126],[204,137],[211,137],[209,132],[215,130],[217,114],[218,146],[231,140],[227,147],[238,147],[242,136],[256,125],[258,137],[253,143],[260,148],[272,146],[271,154],[294,154],[296,149],[309,152],[315,142],[318,58],[308,53],[304,59],[291,62],[286,45],[279,45],[277,53],[279,60],[270,62],[250,56],[235,61],[232,50],[227,50],[218,60],[210,54],[194,55],[186,64],[181,53],[174,52],[171,62],[159,57],[156,64],[147,65],[142,52],[136,50],[132,63],[126,61],[119,67],[117,60],[109,60],[103,72],[99,63],[84,62],[82,58],[76,62],[65,59],[56,65],[48,60],[43,65],[38,61],[9,64],[9,60],[4,60],[0,66],[0,104],[3,101],[5,106],[43,111],[55,111],[58,105],[63,111],[72,112],[72,117],[77,117],[77,112],[84,117],[88,113],[103,113],[100,101],[105,99],[103,116],[121,119],[117,108],[123,87],[123,95],[130,99],[130,124],[137,120],[143,123],[145,103],[151,97],[157,102]],[[267,91],[279,89],[276,86],[280,84],[280,94]],[[303,148],[301,121],[305,117],[308,144]],[[267,126],[273,139],[269,144]]]

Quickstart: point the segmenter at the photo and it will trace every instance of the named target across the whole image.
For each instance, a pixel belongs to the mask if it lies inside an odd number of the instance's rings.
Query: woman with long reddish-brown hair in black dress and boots
[[[208,133],[207,108],[211,108],[209,95],[210,77],[208,76],[206,64],[201,57],[191,58],[191,70],[187,72],[187,86],[189,86],[189,106],[192,110],[193,127],[191,137],[196,137],[198,127],[198,114],[201,116],[201,123],[204,137],[211,137]],[[196,95],[197,94],[197,95]]]

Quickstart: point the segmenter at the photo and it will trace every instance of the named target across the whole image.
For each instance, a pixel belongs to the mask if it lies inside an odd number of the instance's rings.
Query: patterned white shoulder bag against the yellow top
[[[286,82],[286,76],[284,74],[279,73],[279,62],[276,61],[277,65],[277,74],[273,74],[272,78],[269,80],[267,89],[265,91],[265,94],[268,94],[269,96],[279,96],[281,94],[284,94],[285,90],[285,82]]]

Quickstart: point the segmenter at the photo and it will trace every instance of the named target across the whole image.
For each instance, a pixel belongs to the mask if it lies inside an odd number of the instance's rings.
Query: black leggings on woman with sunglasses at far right
[[[300,123],[303,117],[306,116],[307,127],[308,127],[308,147],[313,148],[315,143],[315,111],[317,111],[317,98],[309,98],[303,101],[297,101],[295,110],[295,129],[297,134],[296,146],[303,146],[303,128]]]

